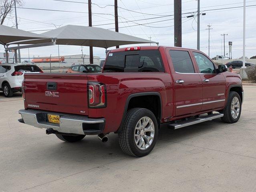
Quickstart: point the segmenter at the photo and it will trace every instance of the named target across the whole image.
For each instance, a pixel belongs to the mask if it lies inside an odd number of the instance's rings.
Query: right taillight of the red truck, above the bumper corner
[[[88,82],[88,107],[104,108],[106,102],[106,85],[98,82]]]

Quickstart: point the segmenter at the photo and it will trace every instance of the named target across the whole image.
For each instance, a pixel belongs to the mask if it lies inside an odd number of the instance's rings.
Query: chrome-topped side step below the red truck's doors
[[[180,121],[180,122],[177,122],[177,123],[169,124],[168,128],[178,129],[178,128],[181,128],[181,127],[186,127],[186,126],[189,126],[189,125],[202,123],[202,122],[209,121],[209,120],[212,120],[212,119],[217,119],[217,118],[220,118],[220,117],[223,117],[223,116],[224,116],[224,114],[222,114],[222,113],[210,114],[210,115],[202,116],[202,117],[195,118],[195,119],[189,119],[189,120],[186,120],[186,121]]]

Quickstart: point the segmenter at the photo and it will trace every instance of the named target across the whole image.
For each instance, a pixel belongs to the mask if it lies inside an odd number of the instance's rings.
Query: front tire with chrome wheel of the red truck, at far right
[[[224,116],[221,118],[223,122],[235,123],[239,120],[242,110],[242,102],[237,92],[231,91],[228,96],[226,107],[222,111]]]

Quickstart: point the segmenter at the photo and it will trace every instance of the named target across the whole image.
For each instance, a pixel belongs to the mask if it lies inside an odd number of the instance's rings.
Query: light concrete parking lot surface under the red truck
[[[0,192],[256,191],[256,86],[244,86],[242,115],[160,130],[148,156],[119,148],[117,134],[65,143],[17,121],[20,93],[0,92]]]

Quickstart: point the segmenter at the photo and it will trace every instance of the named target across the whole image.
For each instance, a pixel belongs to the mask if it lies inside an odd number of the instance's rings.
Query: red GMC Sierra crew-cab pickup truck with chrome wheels
[[[25,74],[19,122],[66,142],[118,134],[132,156],[151,152],[162,126],[240,118],[242,80],[203,52],[167,46],[111,50],[102,73]]]

